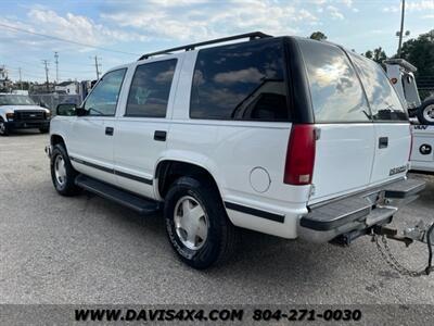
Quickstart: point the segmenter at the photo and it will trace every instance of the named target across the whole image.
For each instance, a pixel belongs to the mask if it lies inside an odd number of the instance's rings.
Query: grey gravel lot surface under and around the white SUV
[[[0,303],[434,303],[434,276],[400,276],[370,238],[349,248],[242,231],[233,260],[206,272],[180,263],[162,216],[141,217],[51,184],[47,135],[0,138]],[[434,178],[395,216],[434,220]],[[422,266],[426,248],[393,251]]]

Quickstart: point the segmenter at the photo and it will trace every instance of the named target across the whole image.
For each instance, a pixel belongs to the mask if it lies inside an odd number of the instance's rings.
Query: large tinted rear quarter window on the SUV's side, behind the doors
[[[289,121],[283,64],[279,40],[201,50],[194,70],[190,116]]]

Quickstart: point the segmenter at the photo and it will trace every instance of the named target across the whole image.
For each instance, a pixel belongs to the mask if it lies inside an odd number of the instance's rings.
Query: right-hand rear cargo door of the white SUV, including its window
[[[410,127],[408,116],[382,67],[375,62],[349,54],[363,84],[375,131],[375,156],[370,183],[401,177],[408,168]]]

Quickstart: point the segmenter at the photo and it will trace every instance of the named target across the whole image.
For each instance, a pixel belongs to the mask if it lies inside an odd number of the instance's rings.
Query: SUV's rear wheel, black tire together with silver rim
[[[189,266],[204,269],[232,254],[235,227],[213,184],[179,178],[165,198],[164,216],[170,244]]]

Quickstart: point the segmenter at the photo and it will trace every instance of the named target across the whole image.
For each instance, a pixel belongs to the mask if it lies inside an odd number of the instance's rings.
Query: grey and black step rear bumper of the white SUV
[[[346,233],[387,224],[398,206],[417,199],[424,187],[423,180],[399,179],[311,206],[309,213],[298,221],[298,237],[314,242],[327,242]]]

